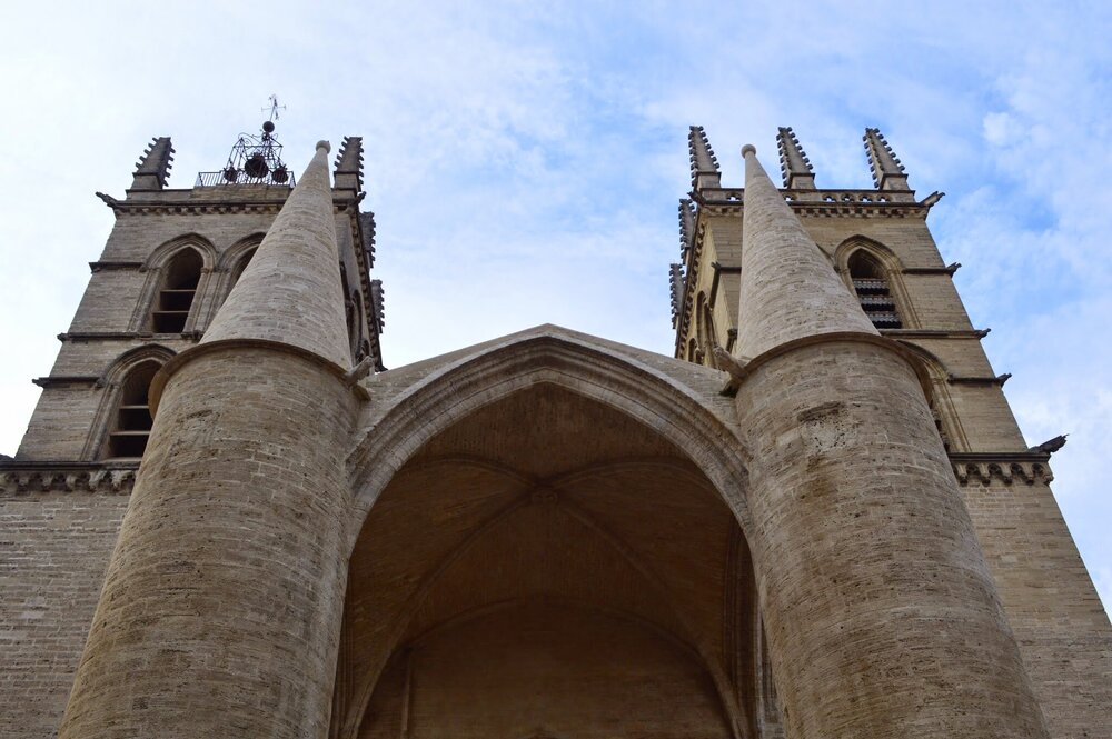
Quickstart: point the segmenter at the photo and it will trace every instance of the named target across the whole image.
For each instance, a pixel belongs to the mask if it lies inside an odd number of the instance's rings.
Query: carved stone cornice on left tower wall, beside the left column
[[[0,495],[97,492],[131,495],[139,460],[112,462],[0,461]]]

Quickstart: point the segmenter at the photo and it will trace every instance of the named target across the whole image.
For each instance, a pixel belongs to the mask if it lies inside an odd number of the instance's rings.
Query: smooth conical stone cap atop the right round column
[[[756,357],[795,339],[854,331],[876,334],[856,298],[768,179],[756,149],[745,158],[737,353]]]

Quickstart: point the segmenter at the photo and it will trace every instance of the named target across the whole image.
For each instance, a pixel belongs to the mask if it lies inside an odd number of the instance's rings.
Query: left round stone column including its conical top
[[[156,380],[63,738],[327,733],[359,402],[327,151],[205,339]]]

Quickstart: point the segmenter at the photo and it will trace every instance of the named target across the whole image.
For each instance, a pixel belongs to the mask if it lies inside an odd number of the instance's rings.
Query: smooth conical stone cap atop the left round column
[[[201,343],[261,339],[351,364],[327,141],[290,192]]]

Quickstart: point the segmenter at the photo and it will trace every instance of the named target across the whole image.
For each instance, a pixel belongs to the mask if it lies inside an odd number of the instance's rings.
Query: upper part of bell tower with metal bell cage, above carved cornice
[[[53,368],[34,380],[42,396],[16,455],[28,485],[57,477],[61,468],[50,463],[62,461],[66,476],[128,485],[150,429],[150,379],[205,336],[296,184],[274,120],[240,134],[225,166],[200,172],[190,189],[168,187],[172,161],[170,138],[155,138],[122,199],[97,193],[116,226],[58,337]],[[334,176],[348,344],[357,361],[381,368],[383,288],[370,277],[375,217],[360,209],[361,138],[344,139]]]

